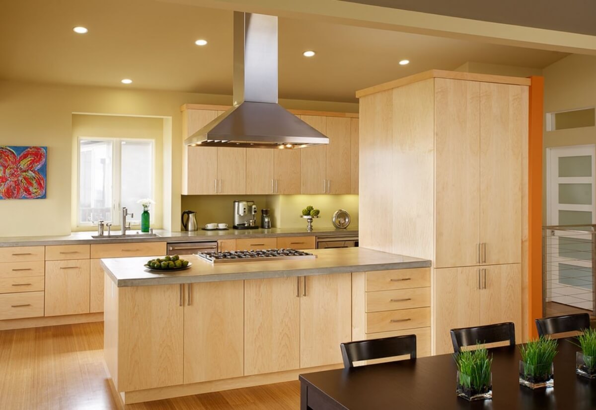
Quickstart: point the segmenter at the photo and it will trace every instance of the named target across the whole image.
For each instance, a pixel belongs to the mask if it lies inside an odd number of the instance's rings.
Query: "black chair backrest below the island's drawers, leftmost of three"
[[[380,339],[342,343],[344,367],[354,367],[354,362],[409,355],[416,358],[416,335],[384,337]]]

